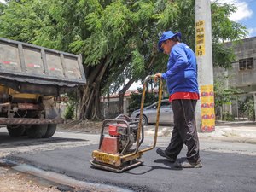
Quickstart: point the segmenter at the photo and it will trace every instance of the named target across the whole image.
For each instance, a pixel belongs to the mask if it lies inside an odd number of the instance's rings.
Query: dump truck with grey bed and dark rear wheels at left
[[[86,83],[81,55],[0,38],[0,126],[9,136],[52,137],[57,98]]]

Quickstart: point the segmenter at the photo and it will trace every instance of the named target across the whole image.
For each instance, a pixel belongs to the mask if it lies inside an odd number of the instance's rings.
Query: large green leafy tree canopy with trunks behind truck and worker
[[[0,36],[83,55],[87,84],[80,89],[80,119],[101,118],[100,96],[149,73],[163,72],[160,34],[182,32],[195,47],[194,0],[9,0],[0,4]],[[228,15],[236,8],[212,3],[213,63],[229,67],[234,54],[222,46],[246,35]],[[125,86],[125,79],[130,81]]]

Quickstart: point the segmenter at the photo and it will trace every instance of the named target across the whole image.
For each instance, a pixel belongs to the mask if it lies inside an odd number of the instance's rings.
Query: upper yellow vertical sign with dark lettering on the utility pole
[[[195,54],[202,56],[206,54],[205,47],[205,21],[199,20],[195,23]]]

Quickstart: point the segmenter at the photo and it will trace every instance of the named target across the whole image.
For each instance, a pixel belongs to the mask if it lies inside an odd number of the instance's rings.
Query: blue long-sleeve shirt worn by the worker
[[[195,53],[188,45],[179,43],[172,47],[162,79],[166,79],[170,95],[176,92],[199,93]]]

